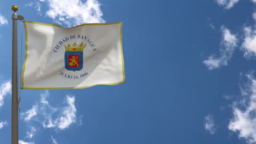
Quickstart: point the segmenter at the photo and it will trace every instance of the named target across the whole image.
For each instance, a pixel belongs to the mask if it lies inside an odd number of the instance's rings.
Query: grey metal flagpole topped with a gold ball
[[[17,79],[17,21],[24,17],[17,15],[18,7],[12,6],[13,20],[13,56],[12,56],[12,144],[18,144],[18,79]]]

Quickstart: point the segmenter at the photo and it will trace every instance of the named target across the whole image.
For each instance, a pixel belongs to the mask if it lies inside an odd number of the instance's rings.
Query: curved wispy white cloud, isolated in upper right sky
[[[235,51],[237,45],[236,35],[230,33],[229,29],[224,26],[221,27],[223,36],[220,49],[220,57],[214,58],[214,55],[208,57],[203,63],[207,65],[209,70],[217,69],[222,65],[227,65],[229,59],[232,58],[233,52]]]

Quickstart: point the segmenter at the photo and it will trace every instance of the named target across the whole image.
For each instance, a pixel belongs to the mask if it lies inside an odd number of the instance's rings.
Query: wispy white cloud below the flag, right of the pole
[[[64,130],[69,128],[70,124],[76,122],[75,97],[66,95],[65,102],[67,105],[60,108],[54,108],[53,106],[49,105],[49,101],[47,101],[48,96],[48,91],[42,93],[40,102],[33,105],[30,110],[21,113],[22,118],[24,121],[30,121],[33,117],[38,115],[36,117],[36,121],[42,121],[44,128],[56,128],[56,130]],[[59,112],[59,114],[56,115],[55,113],[57,112]],[[53,114],[55,114],[56,117]]]

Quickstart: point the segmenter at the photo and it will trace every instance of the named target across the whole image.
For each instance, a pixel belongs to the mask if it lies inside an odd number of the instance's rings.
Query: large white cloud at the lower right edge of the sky
[[[243,99],[233,105],[233,118],[228,128],[247,143],[256,143],[256,79],[253,72],[246,75],[248,83],[241,88]]]

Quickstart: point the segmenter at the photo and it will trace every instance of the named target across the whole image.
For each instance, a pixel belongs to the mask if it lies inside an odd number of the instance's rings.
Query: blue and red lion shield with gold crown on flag
[[[77,46],[76,42],[70,46],[68,44],[65,45],[65,68],[69,71],[79,71],[83,68],[83,50],[86,46],[83,43],[81,43],[79,46]]]

